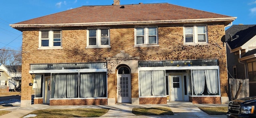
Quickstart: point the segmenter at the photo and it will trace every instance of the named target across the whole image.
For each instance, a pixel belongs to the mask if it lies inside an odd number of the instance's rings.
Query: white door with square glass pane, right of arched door
[[[183,101],[183,87],[181,78],[181,75],[171,76],[171,101]]]

